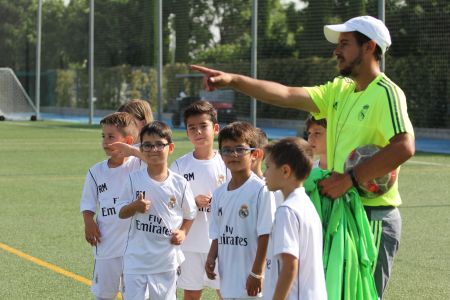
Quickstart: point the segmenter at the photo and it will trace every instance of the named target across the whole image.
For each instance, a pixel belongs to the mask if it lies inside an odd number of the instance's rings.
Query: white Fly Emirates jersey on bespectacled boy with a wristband
[[[220,186],[213,193],[210,236],[218,240],[220,292],[224,298],[247,298],[245,288],[258,246],[269,234],[275,212],[273,194],[254,173],[239,188]]]

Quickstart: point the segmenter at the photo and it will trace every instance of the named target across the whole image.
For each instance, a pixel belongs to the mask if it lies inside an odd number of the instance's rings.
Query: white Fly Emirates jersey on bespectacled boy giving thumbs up
[[[175,270],[184,260],[179,246],[172,245],[172,233],[183,219],[195,218],[197,207],[187,181],[168,171],[163,182],[153,180],[147,170],[131,173],[126,183],[125,197],[117,205],[120,210],[134,201],[139,193],[151,201],[147,213],[131,218],[128,242],[124,254],[125,274],[156,274]]]

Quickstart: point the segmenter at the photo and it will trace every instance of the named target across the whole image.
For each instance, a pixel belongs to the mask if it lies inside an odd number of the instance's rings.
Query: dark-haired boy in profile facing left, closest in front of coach
[[[265,299],[327,299],[322,261],[322,224],[305,193],[312,167],[311,146],[285,138],[266,148],[266,184],[281,190],[269,241]]]

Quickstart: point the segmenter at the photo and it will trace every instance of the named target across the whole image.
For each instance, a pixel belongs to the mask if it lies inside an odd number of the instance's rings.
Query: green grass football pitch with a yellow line
[[[100,137],[95,126],[0,122],[0,299],[92,299],[79,200],[88,168],[105,159]],[[171,160],[191,149],[184,132],[174,139]],[[450,299],[449,179],[450,156],[419,153],[403,166],[402,243],[385,299]]]

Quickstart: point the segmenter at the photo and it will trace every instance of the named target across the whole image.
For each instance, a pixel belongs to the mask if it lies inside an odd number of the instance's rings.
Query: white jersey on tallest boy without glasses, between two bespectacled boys
[[[222,157],[216,155],[209,160],[199,160],[189,152],[172,163],[170,169],[183,176],[191,186],[194,197],[211,195],[222,183],[227,182],[230,173]],[[184,251],[208,253],[211,239],[209,238],[209,220],[211,207],[198,208],[197,216],[181,245]]]

